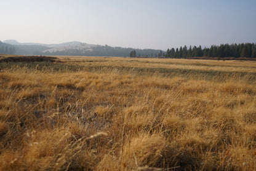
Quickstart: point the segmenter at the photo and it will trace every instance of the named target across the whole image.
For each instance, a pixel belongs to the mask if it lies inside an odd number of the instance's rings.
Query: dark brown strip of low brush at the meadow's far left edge
[[[60,62],[56,57],[23,56],[0,58],[0,62]]]

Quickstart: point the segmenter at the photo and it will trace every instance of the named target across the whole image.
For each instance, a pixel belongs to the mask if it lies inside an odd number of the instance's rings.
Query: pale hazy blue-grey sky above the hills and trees
[[[256,42],[255,0],[4,0],[0,40],[166,50]]]

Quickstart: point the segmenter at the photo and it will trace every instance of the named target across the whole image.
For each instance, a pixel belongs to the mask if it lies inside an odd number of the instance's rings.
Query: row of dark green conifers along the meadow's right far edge
[[[180,47],[180,49],[167,49],[166,58],[191,58],[191,57],[242,57],[256,58],[256,45],[254,43],[242,44],[221,44],[210,48],[201,46],[193,48],[190,46]]]

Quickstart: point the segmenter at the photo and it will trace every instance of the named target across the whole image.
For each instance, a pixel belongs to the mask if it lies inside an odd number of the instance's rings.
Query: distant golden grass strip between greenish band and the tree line
[[[59,57],[66,59],[67,57]],[[86,62],[87,65],[98,66],[132,66],[145,68],[175,68],[202,71],[244,71],[255,72],[254,61],[217,61],[217,60],[186,60],[158,58],[120,58],[120,57],[68,57],[71,62]]]

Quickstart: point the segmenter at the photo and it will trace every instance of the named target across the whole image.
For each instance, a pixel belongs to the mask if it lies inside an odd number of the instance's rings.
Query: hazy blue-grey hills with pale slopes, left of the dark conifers
[[[160,50],[133,49],[124,47],[111,47],[108,45],[87,44],[78,41],[65,42],[62,44],[20,43],[16,40],[0,41],[0,52],[20,55],[84,55],[84,56],[129,56],[132,50],[137,55],[154,57]],[[0,54],[1,54],[0,53]]]

